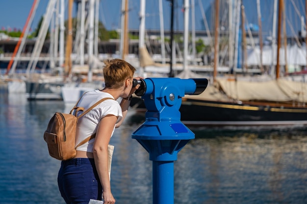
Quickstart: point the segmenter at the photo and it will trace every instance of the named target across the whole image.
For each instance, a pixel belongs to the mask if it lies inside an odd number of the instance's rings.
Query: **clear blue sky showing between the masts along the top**
[[[100,20],[108,30],[120,28],[121,17],[121,1],[122,0],[100,0]],[[220,0],[221,2],[224,0]],[[32,30],[36,28],[41,16],[46,12],[49,0],[40,0],[38,9],[31,24]],[[67,0],[65,0],[67,6]],[[170,29],[170,6],[169,1],[162,0],[163,15],[164,15],[164,29]],[[184,0],[177,0],[177,9],[175,12],[174,29],[183,29],[183,12],[181,8]],[[195,24],[196,30],[204,29],[202,23],[201,4],[206,11],[210,4],[214,6],[214,0],[195,0]],[[262,29],[266,35],[272,33],[273,22],[273,2],[274,0],[260,0],[261,15],[262,15]],[[0,0],[0,29],[2,27],[11,29],[23,29],[26,23],[26,18],[29,14],[33,0]],[[249,23],[257,23],[256,0],[243,1],[246,11],[247,21]],[[129,0],[129,28],[139,28],[139,4],[140,0]],[[305,17],[305,0],[285,0],[287,13],[287,35],[297,35],[301,28],[300,16]],[[74,6],[76,10],[77,6]],[[221,8],[223,9],[223,8]],[[224,8],[225,9],[225,8]],[[159,29],[159,15],[158,15],[158,0],[146,0],[146,28]],[[191,12],[190,12],[191,13]],[[223,11],[221,11],[223,13]],[[67,18],[67,16],[65,17]],[[208,18],[208,17],[207,17]],[[227,18],[227,17],[225,17]],[[210,22],[209,22],[210,23]],[[190,21],[191,28],[191,21]]]

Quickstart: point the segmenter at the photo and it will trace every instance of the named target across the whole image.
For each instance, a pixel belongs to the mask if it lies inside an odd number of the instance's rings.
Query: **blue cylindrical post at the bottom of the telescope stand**
[[[153,204],[174,204],[174,161],[153,161]]]

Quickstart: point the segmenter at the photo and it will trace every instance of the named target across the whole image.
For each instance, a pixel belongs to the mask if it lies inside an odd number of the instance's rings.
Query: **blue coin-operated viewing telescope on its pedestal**
[[[194,139],[181,121],[179,108],[185,94],[205,91],[207,79],[146,78],[135,94],[147,108],[145,122],[132,133],[153,161],[153,204],[174,204],[174,161],[177,153]],[[197,114],[197,113],[191,113]]]

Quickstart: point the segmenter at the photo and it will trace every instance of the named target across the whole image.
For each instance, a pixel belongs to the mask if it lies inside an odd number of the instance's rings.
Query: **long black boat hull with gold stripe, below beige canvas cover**
[[[145,112],[140,98],[133,98],[132,107]],[[248,105],[187,99],[180,106],[181,121],[196,126],[307,125],[307,108],[282,105]]]

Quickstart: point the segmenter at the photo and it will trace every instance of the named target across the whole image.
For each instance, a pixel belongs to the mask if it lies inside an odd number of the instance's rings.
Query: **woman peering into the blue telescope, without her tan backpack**
[[[90,199],[115,203],[107,148],[114,129],[125,119],[131,95],[139,85],[132,87],[135,68],[126,61],[113,59],[104,64],[105,88],[85,93],[77,104],[86,110],[102,98],[111,98],[78,119],[76,146],[88,136],[96,133],[96,137],[77,147],[74,159],[62,161],[58,173],[59,190],[67,204],[88,204]],[[123,99],[119,104],[116,100],[120,97]]]

